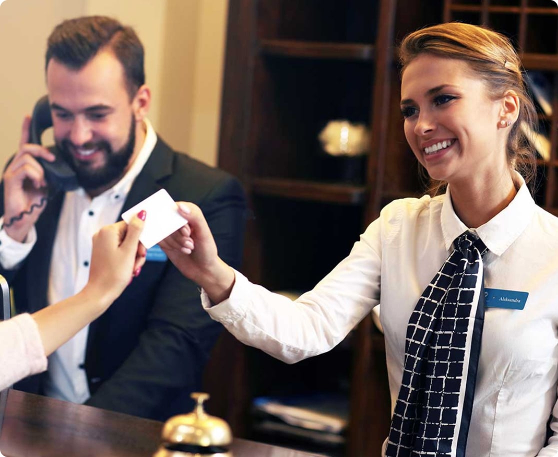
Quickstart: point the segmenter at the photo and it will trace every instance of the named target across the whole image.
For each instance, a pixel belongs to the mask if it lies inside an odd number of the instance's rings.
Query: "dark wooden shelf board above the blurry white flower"
[[[261,40],[259,52],[267,56],[310,57],[311,59],[374,59],[374,46],[361,43],[324,43],[300,40]]]

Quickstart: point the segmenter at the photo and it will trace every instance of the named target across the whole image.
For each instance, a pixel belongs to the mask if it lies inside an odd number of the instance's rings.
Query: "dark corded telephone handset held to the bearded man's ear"
[[[41,134],[47,128],[52,127],[52,116],[50,114],[49,98],[44,95],[35,104],[29,127],[29,142],[36,145],[41,144]],[[56,155],[56,151],[54,151]],[[54,162],[37,157],[37,161],[45,170],[45,179],[52,190],[60,189],[64,192],[75,190],[79,187],[78,179],[74,170],[70,168],[61,157],[56,156]]]

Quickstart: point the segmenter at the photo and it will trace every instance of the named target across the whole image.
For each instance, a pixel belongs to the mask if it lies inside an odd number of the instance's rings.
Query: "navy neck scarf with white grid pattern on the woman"
[[[386,457],[464,457],[484,322],[482,256],[472,232],[426,287],[411,314],[405,367]]]

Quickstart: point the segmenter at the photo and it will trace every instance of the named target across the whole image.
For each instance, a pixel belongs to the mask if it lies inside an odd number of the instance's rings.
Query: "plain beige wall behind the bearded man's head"
[[[0,163],[45,93],[46,38],[60,21],[103,14],[136,29],[146,49],[150,119],[171,146],[217,163],[227,0],[6,0],[0,5]]]

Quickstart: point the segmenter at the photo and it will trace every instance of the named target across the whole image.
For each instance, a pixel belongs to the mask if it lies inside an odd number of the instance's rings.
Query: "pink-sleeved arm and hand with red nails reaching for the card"
[[[89,281],[76,295],[0,323],[0,389],[46,369],[46,357],[97,319],[140,273],[146,250],[139,243],[146,212],[130,225],[107,225],[93,237]]]

